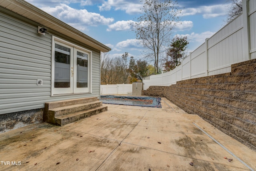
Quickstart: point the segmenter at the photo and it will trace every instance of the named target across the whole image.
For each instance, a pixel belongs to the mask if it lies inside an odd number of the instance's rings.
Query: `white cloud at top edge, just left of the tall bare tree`
[[[100,11],[109,11],[112,7],[114,10],[123,10],[127,14],[139,13],[143,3],[140,0],[108,0],[99,6]]]

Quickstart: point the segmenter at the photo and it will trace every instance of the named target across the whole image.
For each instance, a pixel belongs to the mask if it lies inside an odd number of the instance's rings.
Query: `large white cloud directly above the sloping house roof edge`
[[[79,30],[86,30],[85,26],[108,25],[114,21],[113,18],[105,18],[100,14],[88,12],[85,9],[77,10],[66,4],[60,4],[53,8],[43,7],[41,9],[71,26],[79,27]]]

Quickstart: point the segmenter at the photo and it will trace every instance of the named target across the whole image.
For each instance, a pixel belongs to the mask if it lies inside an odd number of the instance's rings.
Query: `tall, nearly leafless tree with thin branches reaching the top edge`
[[[145,0],[142,16],[134,24],[137,40],[147,50],[148,57],[154,58],[155,73],[159,73],[160,54],[170,42],[172,29],[179,23],[178,2],[172,0]]]

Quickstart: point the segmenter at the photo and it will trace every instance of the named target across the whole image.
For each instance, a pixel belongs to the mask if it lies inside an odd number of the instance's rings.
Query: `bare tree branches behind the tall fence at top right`
[[[230,10],[228,11],[228,17],[226,22],[229,23],[232,21],[236,16],[238,16],[243,8],[242,8],[242,0],[229,0],[232,2]]]

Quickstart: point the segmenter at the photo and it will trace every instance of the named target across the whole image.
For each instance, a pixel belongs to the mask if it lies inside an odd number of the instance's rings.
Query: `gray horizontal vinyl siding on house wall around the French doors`
[[[43,108],[47,101],[99,97],[100,52],[51,32],[38,34],[38,24],[25,21],[0,12],[0,114]],[[52,35],[92,51],[92,93],[50,96]]]

